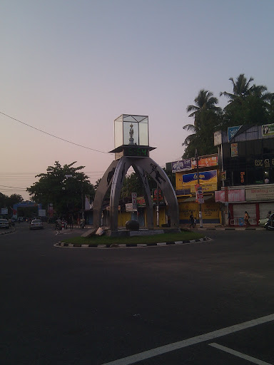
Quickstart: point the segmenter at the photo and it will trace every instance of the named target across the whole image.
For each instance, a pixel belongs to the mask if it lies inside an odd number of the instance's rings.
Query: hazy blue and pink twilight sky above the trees
[[[1,0],[0,14],[5,195],[29,199],[56,160],[96,183],[121,114],[148,115],[151,158],[165,167],[183,155],[202,88],[222,108],[240,73],[274,92],[273,0]]]

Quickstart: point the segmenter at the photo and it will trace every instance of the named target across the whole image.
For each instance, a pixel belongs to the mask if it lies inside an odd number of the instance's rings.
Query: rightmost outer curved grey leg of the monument
[[[176,192],[171,185],[168,176],[164,172],[164,170],[152,160],[152,158],[140,158],[138,159],[138,167],[151,175],[151,178],[156,181],[158,186],[163,191],[163,194],[166,197],[166,201],[168,202],[168,210],[171,213],[171,227],[178,228],[179,227],[179,206],[178,200],[176,197]]]

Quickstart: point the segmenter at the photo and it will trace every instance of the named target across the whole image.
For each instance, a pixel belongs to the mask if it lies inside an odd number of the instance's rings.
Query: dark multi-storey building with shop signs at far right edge
[[[274,211],[274,124],[230,127],[228,133],[215,132],[214,144],[223,180],[215,202],[223,222],[243,225],[247,211],[250,224],[258,225]]]

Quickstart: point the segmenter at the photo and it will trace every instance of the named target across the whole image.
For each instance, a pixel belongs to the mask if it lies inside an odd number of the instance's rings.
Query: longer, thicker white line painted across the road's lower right
[[[138,361],[150,359],[153,356],[158,356],[161,354],[166,354],[166,352],[183,349],[183,347],[199,344],[204,341],[209,341],[210,339],[216,339],[218,337],[232,334],[233,332],[241,331],[242,329],[248,329],[250,327],[258,326],[258,324],[263,324],[270,321],[274,321],[274,314],[270,314],[269,316],[260,317],[257,319],[252,319],[251,321],[235,324],[233,326],[225,327],[223,329],[217,329],[216,331],[208,332],[207,334],[201,334],[199,336],[191,337],[191,339],[184,339],[183,341],[174,342],[173,344],[156,347],[155,349],[143,351],[139,354],[131,355],[123,359],[114,360],[102,365],[134,364]]]

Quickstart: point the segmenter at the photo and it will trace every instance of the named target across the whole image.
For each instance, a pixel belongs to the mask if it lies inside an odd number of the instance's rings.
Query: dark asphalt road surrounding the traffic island
[[[274,232],[205,233],[124,249],[54,247],[51,226],[0,236],[0,363],[274,364]]]

